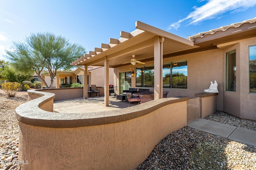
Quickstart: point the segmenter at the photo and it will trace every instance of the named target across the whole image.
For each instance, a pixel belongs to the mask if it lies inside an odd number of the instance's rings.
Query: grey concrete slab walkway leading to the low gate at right
[[[196,119],[190,121],[187,123],[187,126],[214,135],[226,137],[232,141],[237,141],[256,147],[256,131],[209,121],[206,119]]]

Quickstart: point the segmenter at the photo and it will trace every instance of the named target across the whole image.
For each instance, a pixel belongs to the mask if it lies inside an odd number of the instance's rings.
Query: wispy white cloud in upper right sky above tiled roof
[[[190,21],[189,24],[196,24],[203,20],[218,17],[225,12],[241,12],[255,5],[256,0],[208,0],[208,2],[203,6],[193,7],[194,11],[190,12],[186,18],[171,23],[168,30],[172,28],[178,29],[180,27],[180,23],[188,19]]]

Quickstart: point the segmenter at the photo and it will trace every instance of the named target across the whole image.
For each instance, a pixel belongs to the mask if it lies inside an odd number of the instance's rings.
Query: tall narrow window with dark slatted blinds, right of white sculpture
[[[236,92],[236,50],[226,53],[226,91]]]

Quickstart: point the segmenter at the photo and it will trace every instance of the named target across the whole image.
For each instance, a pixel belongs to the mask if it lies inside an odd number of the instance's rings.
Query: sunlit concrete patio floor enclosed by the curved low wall
[[[88,113],[122,109],[129,105],[129,102],[116,100],[116,96],[109,96],[109,101],[109,106],[106,107],[104,104],[104,96],[88,99],[62,100],[54,102],[53,108],[54,111],[59,113]],[[134,103],[134,105],[130,104],[130,107],[135,105],[137,105],[137,103]]]

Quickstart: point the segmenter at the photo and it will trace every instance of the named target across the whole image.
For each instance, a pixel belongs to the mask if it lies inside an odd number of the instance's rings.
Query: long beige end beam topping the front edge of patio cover
[[[190,41],[188,39],[184,39],[182,37],[179,37],[178,35],[174,35],[172,33],[169,33],[167,31],[164,31],[162,29],[153,27],[151,25],[148,25],[148,24],[140,22],[140,21],[136,21],[135,27],[137,29],[141,29],[143,31],[147,31],[147,32],[153,33],[153,34],[158,35],[160,37],[166,37],[166,38],[172,39],[174,41],[178,41],[178,42],[186,44],[186,45],[194,46],[194,42],[193,41]]]

